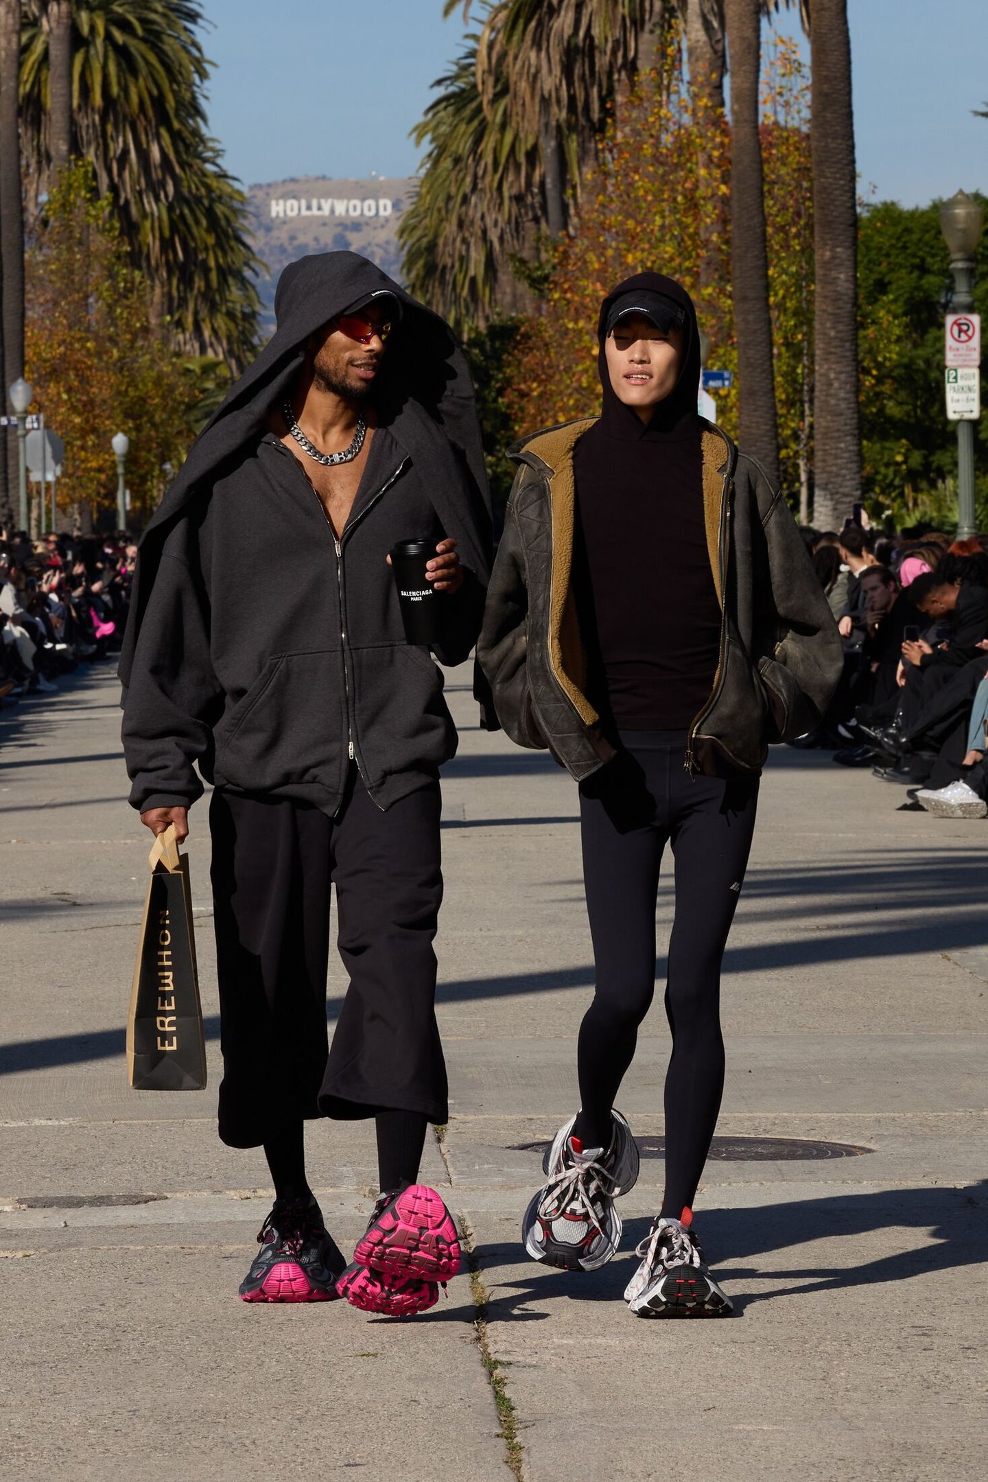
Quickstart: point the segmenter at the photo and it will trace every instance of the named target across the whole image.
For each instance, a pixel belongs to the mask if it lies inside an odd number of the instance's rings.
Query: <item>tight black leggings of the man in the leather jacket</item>
[[[717,1125],[724,1085],[720,965],[748,864],[758,778],[690,777],[686,737],[625,732],[615,762],[581,784],[584,882],[597,986],[579,1030],[575,1135],[607,1147],[610,1109],[655,994],[655,907],[667,840],[675,861],[665,1012],[665,1196],[680,1218]]]

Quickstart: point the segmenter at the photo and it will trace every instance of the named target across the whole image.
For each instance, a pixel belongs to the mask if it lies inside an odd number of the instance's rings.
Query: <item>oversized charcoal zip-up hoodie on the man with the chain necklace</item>
[[[446,510],[456,508],[446,491]],[[218,787],[333,814],[351,757],[381,808],[456,750],[443,677],[404,640],[387,554],[395,541],[470,542],[440,525],[400,421],[381,427],[336,541],[293,453],[264,436],[167,534],[129,667],[123,742],[138,809]],[[443,594],[446,664],[467,658],[483,585]]]

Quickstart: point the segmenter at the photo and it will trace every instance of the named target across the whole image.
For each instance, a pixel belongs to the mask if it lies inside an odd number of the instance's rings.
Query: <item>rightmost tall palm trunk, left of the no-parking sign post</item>
[[[813,520],[838,531],[861,498],[858,205],[847,0],[813,0]]]

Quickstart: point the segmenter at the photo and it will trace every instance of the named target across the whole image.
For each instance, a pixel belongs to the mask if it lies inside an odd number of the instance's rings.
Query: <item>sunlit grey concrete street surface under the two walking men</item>
[[[213,1128],[204,808],[190,857],[210,1088],[132,1092],[148,840],[121,800],[116,685],[95,668],[0,713],[0,1478],[981,1478],[988,825],[901,812],[904,791],[867,772],[773,751],[727,953],[718,1135],[747,1154],[764,1138],[864,1152],[711,1159],[698,1227],[738,1316],[640,1322],[619,1298],[659,1157],[622,1200],[612,1266],[520,1258],[593,984],[576,794],[475,729],[467,670],[447,688],[452,1114],[425,1177],[474,1275],[404,1323],[236,1300],[270,1190],[262,1157]],[[670,913],[667,880],[661,940]],[[344,991],[335,960],[330,1014]],[[641,1137],[662,1131],[667,1054],[656,1005],[621,1097]],[[320,1125],[310,1150],[347,1249],[375,1192],[372,1129]]]

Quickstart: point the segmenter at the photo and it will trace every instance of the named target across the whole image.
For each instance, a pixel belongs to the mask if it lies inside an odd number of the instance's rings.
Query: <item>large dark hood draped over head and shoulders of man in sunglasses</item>
[[[435,513],[462,535],[459,556],[486,585],[490,572],[490,499],[480,422],[467,359],[453,332],[393,279],[357,252],[323,252],[290,262],[274,299],[277,329],[258,359],[230,388],[222,406],[193,443],[178,477],[151,519],[138,556],[130,617],[120,655],[126,688],[161,548],[176,519],[244,448],[265,431],[273,409],[287,399],[305,360],[307,341],[375,293],[400,304],[400,322],[373,390],[373,402],[428,482]],[[467,477],[464,477],[467,474]],[[446,520],[452,491],[470,486],[470,508]],[[462,498],[462,495],[459,495]]]

